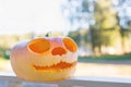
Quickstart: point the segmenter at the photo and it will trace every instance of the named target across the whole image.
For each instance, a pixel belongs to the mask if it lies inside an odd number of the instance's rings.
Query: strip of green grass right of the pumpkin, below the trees
[[[88,61],[131,61],[131,54],[123,55],[99,55],[99,57],[79,57],[79,62],[88,62]]]

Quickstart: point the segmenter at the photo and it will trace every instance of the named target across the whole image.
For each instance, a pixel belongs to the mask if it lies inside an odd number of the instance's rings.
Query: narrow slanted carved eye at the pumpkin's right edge
[[[71,52],[75,52],[78,50],[76,44],[70,38],[63,38],[63,44],[66,48]]]

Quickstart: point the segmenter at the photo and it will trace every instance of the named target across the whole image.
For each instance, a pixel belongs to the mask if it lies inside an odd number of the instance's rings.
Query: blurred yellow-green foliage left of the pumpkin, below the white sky
[[[32,34],[0,35],[0,58],[10,59],[11,48],[22,39],[31,39]]]

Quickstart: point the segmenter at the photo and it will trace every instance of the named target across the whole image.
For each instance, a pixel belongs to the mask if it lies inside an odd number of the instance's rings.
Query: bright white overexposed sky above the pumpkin
[[[0,34],[67,33],[60,0],[0,0]]]

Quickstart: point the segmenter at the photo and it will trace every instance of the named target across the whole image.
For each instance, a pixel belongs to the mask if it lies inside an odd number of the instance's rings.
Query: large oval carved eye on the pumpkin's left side
[[[50,49],[50,44],[47,39],[35,39],[28,44],[28,48],[36,53],[44,53]]]

